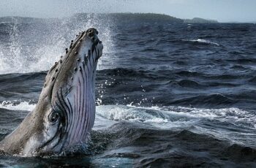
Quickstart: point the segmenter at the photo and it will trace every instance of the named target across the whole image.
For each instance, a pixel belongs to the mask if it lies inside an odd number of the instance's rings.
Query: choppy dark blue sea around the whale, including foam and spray
[[[104,45],[84,154],[0,167],[256,167],[256,25],[129,22],[100,15],[0,23],[0,140],[33,110],[79,31]]]

